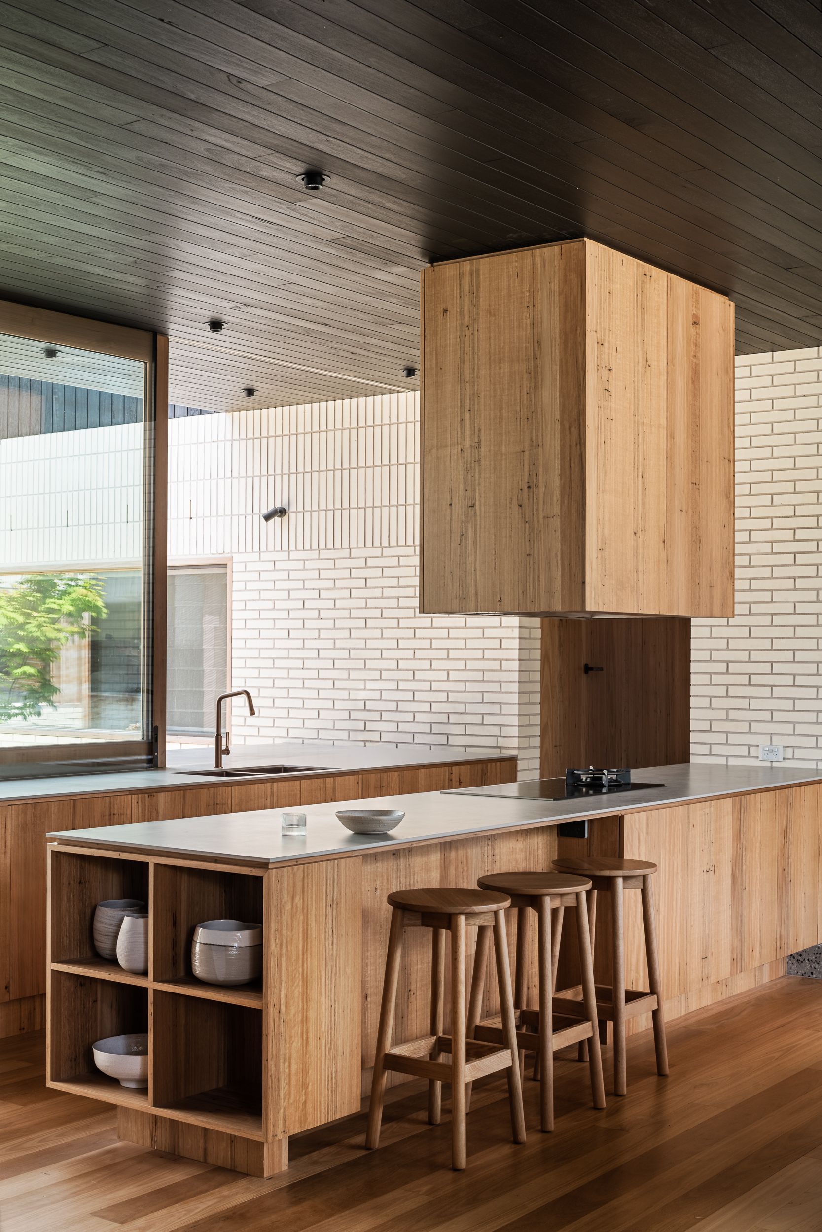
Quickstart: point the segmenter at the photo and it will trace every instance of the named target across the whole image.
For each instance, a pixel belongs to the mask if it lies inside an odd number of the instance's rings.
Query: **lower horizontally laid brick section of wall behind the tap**
[[[502,744],[534,759],[531,630],[420,616],[417,583],[415,547],[235,557],[234,681],[261,708],[243,738]]]

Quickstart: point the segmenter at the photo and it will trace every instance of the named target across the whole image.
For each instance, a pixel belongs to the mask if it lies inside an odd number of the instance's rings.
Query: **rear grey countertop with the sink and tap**
[[[456,749],[446,744],[296,744],[281,740],[270,744],[242,744],[223,758],[227,770],[239,766],[295,766],[293,774],[279,774],[276,781],[303,779],[307,774],[356,774],[367,770],[408,770],[412,766],[458,765],[465,761],[497,761],[515,756],[499,749]],[[270,782],[270,775],[223,779],[218,775],[186,774],[207,770],[214,764],[214,747],[197,745],[171,749],[164,770],[122,770],[115,774],[52,775],[32,779],[0,779],[0,804],[16,800],[58,800],[65,796],[168,791],[174,787],[216,787],[244,782]]]

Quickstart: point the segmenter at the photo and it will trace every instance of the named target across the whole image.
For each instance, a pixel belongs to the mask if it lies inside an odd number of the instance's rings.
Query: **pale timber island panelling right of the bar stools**
[[[789,954],[822,940],[822,786],[762,791],[595,822],[560,854],[653,860],[665,1015],[785,973]],[[642,918],[625,898],[625,978],[647,987]],[[598,912],[598,981],[610,979],[608,913]],[[568,939],[571,940],[571,939]],[[561,983],[576,983],[572,945]],[[649,1026],[637,1018],[630,1030]]]

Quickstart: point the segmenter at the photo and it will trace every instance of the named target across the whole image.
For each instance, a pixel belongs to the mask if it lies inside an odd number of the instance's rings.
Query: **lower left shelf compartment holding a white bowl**
[[[76,1095],[148,1108],[148,1092],[121,1087],[94,1063],[91,1045],[148,1031],[148,988],[52,970],[48,1082]],[[149,1061],[150,1064],[150,1061]]]

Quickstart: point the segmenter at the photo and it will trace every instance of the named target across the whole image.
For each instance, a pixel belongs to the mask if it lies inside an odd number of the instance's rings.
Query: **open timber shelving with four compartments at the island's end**
[[[106,898],[147,903],[147,975],[132,975],[95,952],[94,909]],[[266,1163],[262,979],[235,988],[201,983],[190,957],[202,920],[264,924],[262,871],[54,844],[48,903],[48,1085],[118,1105],[132,1132],[137,1125],[147,1141],[165,1141],[157,1119],[177,1122],[168,1131],[176,1133],[170,1148],[177,1153],[190,1153],[181,1135],[191,1126],[196,1149],[212,1133],[214,1158],[226,1154],[230,1140],[228,1156],[243,1161],[230,1165],[274,1170]],[[136,1031],[148,1032],[149,1079],[142,1090],[100,1073],[91,1053],[96,1040]],[[243,1140],[239,1152],[237,1140]]]

